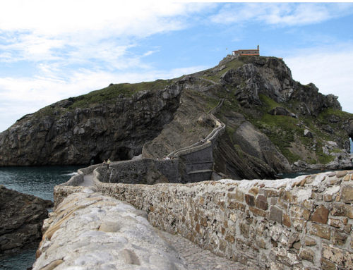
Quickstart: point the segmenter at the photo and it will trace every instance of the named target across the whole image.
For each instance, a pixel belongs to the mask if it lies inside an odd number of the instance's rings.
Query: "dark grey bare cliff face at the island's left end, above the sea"
[[[172,121],[180,94],[173,85],[68,111],[69,100],[58,102],[48,116],[25,116],[0,134],[0,166],[131,159]]]

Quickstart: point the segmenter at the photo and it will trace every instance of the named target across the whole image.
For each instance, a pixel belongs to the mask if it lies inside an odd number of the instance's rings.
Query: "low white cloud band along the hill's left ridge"
[[[193,66],[174,68],[172,70],[147,70],[144,73],[110,73],[80,69],[68,78],[59,78],[52,72],[55,66],[41,65],[44,76],[35,78],[0,78],[0,132],[25,114],[34,113],[68,97],[99,90],[110,83],[148,82],[157,79],[178,78],[181,75],[195,73],[209,68]]]

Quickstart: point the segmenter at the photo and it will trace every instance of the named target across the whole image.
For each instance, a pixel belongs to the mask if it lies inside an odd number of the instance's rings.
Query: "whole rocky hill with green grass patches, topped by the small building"
[[[334,90],[333,90],[334,91]],[[24,116],[0,134],[0,166],[88,164],[163,157],[203,140],[214,123],[217,173],[275,178],[303,168],[352,168],[353,116],[337,97],[292,78],[274,57],[227,56],[209,70],[174,80],[109,87]],[[220,151],[222,149],[222,151]]]

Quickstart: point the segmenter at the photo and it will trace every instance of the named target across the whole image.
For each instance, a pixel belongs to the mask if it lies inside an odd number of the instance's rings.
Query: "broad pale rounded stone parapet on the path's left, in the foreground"
[[[44,221],[32,269],[188,269],[147,218],[89,188],[68,195]]]

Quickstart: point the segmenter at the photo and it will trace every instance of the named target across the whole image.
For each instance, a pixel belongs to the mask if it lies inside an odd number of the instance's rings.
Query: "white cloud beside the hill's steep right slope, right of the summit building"
[[[294,80],[313,82],[322,94],[335,94],[342,110],[353,113],[352,44],[301,49],[284,60]]]

